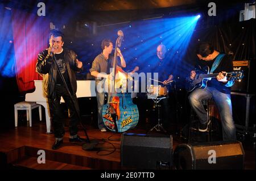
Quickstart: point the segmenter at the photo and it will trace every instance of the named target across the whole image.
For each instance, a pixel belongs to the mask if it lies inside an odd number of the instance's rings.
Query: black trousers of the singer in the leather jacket
[[[76,94],[73,95],[72,91],[71,91],[71,94],[73,96],[73,100],[75,100],[75,104],[77,108],[79,109]],[[70,135],[74,136],[78,132],[77,124],[79,123],[79,117],[77,117],[73,101],[70,98],[68,91],[65,89],[63,85],[55,85],[55,98],[53,99],[48,98],[48,104],[49,104],[49,111],[52,117],[53,131],[56,138],[62,138],[65,134],[64,116],[63,116],[64,113],[63,113],[63,110],[61,110],[61,106],[60,106],[61,96],[65,100],[65,103],[67,104],[69,109],[69,114],[71,119],[69,122]]]

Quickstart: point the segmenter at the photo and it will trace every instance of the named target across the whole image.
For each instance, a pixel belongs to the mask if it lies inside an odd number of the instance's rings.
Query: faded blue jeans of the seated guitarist
[[[234,125],[232,116],[232,104],[230,94],[225,94],[214,87],[207,87],[206,89],[196,89],[188,97],[191,107],[196,112],[202,124],[207,123],[207,112],[204,109],[202,100],[213,98],[222,123],[223,140],[236,140],[236,127]]]

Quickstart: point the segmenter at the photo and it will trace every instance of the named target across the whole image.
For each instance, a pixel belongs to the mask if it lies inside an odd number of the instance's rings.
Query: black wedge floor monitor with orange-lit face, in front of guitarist
[[[244,155],[239,141],[181,144],[174,151],[174,166],[178,170],[241,170]]]

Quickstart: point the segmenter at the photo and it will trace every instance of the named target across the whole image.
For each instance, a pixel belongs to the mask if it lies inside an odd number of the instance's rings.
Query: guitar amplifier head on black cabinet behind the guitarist
[[[241,92],[241,93],[255,93],[255,87],[253,86],[253,79],[255,77],[253,71],[255,68],[255,60],[242,60],[242,61],[233,61],[233,70],[239,71],[243,70],[243,78],[242,80],[236,81],[234,85],[231,87],[231,91],[233,92]]]

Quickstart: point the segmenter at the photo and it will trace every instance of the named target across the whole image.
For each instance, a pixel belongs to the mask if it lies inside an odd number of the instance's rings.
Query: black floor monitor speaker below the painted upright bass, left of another
[[[130,169],[170,169],[172,136],[123,133],[121,166]]]

